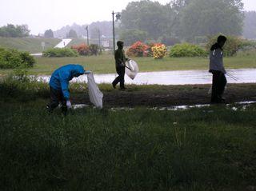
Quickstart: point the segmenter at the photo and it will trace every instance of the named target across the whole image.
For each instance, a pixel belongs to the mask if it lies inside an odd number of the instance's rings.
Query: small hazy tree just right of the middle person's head
[[[126,46],[131,46],[134,42],[145,42],[147,32],[142,30],[124,30],[120,35],[120,39],[125,42]]]

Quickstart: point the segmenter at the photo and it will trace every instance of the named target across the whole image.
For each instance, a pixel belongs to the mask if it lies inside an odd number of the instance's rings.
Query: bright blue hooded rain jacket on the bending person
[[[50,77],[49,85],[54,90],[62,90],[62,94],[66,100],[70,99],[69,82],[74,77],[78,77],[85,73],[81,65],[66,65],[58,68]]]

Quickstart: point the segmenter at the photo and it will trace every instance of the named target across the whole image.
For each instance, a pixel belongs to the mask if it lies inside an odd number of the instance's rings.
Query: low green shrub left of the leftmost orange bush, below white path
[[[70,48],[51,48],[43,51],[44,57],[77,57],[78,52]]]

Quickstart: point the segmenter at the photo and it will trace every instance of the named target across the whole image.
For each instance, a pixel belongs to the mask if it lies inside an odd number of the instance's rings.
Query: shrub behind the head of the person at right
[[[210,47],[217,42],[218,35],[209,37],[208,43],[206,44],[206,49],[210,50]],[[239,50],[239,46],[242,45],[242,39],[234,36],[227,36],[227,41],[223,47],[224,55],[234,56]]]

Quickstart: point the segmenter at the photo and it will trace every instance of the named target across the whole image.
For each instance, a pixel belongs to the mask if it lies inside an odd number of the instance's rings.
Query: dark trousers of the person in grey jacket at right
[[[213,74],[213,84],[211,92],[211,101],[218,101],[222,98],[226,86],[226,77],[220,71],[214,70],[211,71]]]

